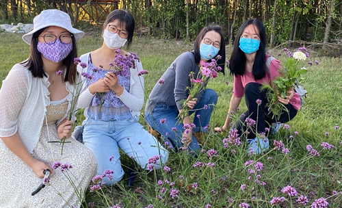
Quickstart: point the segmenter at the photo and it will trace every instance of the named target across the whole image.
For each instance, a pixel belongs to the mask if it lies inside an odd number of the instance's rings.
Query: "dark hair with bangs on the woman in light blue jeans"
[[[110,12],[105,20],[105,23],[103,23],[102,33],[105,27],[107,27],[109,23],[115,21],[116,19],[118,19],[120,27],[122,27],[123,23],[126,24],[126,30],[128,32],[127,48],[129,48],[133,40],[135,21],[132,14],[126,10],[114,10],[113,12]]]

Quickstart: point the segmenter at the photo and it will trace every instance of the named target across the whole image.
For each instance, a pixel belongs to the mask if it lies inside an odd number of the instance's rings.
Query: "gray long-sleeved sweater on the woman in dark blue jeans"
[[[158,103],[166,103],[169,106],[176,105],[178,109],[182,109],[182,101],[189,96],[186,89],[187,86],[191,86],[189,74],[193,71],[194,77],[197,77],[199,70],[194,53],[188,51],[179,55],[161,76],[165,83],[160,84],[157,81],[150,92],[145,107],[146,114],[150,114]],[[198,100],[202,97],[202,92],[198,94]]]

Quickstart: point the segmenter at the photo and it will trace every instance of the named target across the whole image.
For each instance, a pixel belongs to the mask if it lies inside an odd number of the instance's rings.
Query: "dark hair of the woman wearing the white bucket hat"
[[[43,62],[42,62],[42,54],[38,51],[38,37],[47,27],[44,27],[38,31],[36,31],[32,36],[31,47],[29,49],[29,58],[25,62],[21,62],[25,67],[31,71],[34,77],[47,77],[47,74],[44,72]],[[71,36],[71,40],[73,42],[73,49],[70,51],[68,56],[64,58],[62,61],[61,69],[66,70],[66,76],[64,77],[64,81],[68,81],[70,84],[75,83],[76,81],[76,65],[74,64],[74,58],[77,57],[77,46],[75,36]]]

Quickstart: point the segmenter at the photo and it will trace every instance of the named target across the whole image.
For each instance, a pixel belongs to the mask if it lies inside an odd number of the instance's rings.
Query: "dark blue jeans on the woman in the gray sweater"
[[[213,112],[213,105],[211,104],[216,104],[217,102],[218,94],[214,90],[206,89],[202,98],[196,103],[194,110],[189,111],[189,114],[195,113],[194,124],[196,125],[196,128],[192,129],[193,132],[201,131],[206,133],[208,131],[207,125],[209,125],[211,113]],[[207,105],[207,109],[203,108],[204,105]],[[177,123],[178,114],[179,110],[176,105],[169,106],[165,103],[158,103],[153,109],[152,115],[145,115],[145,120],[148,125],[163,135],[164,140],[169,143],[174,151],[179,150],[179,148],[183,146],[183,143],[181,142],[182,133],[184,131],[183,122]],[[163,118],[166,118],[166,122],[161,124],[159,120]],[[176,131],[173,131],[172,127],[176,127]],[[196,152],[199,149],[200,146],[194,135],[192,135],[189,151]]]

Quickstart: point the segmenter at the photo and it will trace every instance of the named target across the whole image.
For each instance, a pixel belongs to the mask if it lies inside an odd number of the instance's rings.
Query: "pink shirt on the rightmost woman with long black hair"
[[[266,54],[266,60],[269,58],[271,55]],[[280,62],[278,60],[272,60],[271,64],[269,64],[269,74],[271,75],[271,80],[275,79],[276,77],[280,76],[279,73],[279,68],[280,68]],[[255,80],[253,77],[252,72],[248,72],[245,70],[244,75],[235,75],[234,76],[234,86],[233,86],[233,95],[235,97],[241,98],[244,96],[244,88],[246,84],[250,82],[256,82],[260,84],[268,83],[268,75],[263,77],[263,79],[258,79]],[[290,104],[295,108],[295,109],[300,109],[300,96],[297,93],[293,94],[293,98],[290,100]]]

